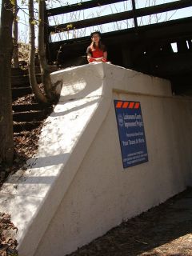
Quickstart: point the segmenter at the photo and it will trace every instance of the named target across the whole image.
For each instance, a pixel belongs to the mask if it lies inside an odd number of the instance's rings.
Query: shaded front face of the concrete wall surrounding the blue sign
[[[112,100],[141,102],[149,162],[122,168],[111,101],[36,256],[70,253],[191,185],[191,100],[173,98],[162,79],[133,71],[130,75],[114,66],[105,66],[104,71],[105,86],[114,90]]]

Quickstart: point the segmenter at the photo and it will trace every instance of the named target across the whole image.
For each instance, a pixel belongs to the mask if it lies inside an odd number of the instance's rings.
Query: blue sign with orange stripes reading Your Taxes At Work
[[[123,168],[148,161],[140,102],[114,100]]]

